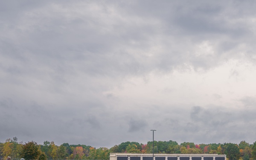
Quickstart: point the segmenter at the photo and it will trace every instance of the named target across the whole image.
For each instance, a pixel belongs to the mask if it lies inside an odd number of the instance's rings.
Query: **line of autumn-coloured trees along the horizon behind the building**
[[[111,148],[95,148],[90,145],[70,145],[63,143],[58,146],[53,141],[44,141],[37,144],[34,141],[18,142],[17,137],[7,139],[0,143],[0,159],[11,156],[12,159],[24,158],[25,160],[109,160],[113,153],[152,153],[153,141],[147,144],[138,142],[123,142]],[[249,144],[241,141],[235,143],[210,143],[195,144],[184,142],[178,144],[176,141],[154,141],[154,153],[166,154],[226,154],[228,160],[256,160],[256,142]]]

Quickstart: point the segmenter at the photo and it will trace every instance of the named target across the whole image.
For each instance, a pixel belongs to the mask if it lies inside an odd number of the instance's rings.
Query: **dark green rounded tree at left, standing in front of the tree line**
[[[36,142],[28,142],[23,145],[22,157],[26,160],[36,160],[38,159],[41,151]]]

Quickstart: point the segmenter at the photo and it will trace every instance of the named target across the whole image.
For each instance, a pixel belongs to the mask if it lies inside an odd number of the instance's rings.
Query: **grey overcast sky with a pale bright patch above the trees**
[[[0,1],[0,142],[252,144],[255,5]]]

